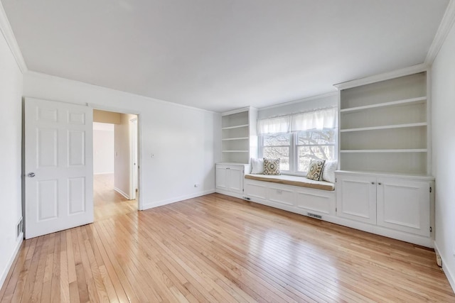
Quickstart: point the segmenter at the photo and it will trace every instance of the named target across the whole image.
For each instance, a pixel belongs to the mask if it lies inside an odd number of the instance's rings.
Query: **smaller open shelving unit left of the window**
[[[257,156],[257,109],[246,107],[222,114],[221,152],[223,162],[250,162]]]

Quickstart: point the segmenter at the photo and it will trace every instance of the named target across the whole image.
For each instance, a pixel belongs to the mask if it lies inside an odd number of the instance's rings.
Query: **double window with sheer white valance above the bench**
[[[259,157],[279,158],[282,172],[300,175],[311,160],[335,160],[337,116],[331,108],[258,121]]]

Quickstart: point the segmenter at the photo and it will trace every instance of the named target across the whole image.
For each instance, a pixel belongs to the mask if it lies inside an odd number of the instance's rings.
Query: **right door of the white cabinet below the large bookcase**
[[[378,178],[378,225],[430,236],[429,182]]]

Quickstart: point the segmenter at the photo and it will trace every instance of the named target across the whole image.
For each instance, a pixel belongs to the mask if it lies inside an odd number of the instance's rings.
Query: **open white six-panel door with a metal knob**
[[[93,222],[92,109],[25,99],[25,237]]]

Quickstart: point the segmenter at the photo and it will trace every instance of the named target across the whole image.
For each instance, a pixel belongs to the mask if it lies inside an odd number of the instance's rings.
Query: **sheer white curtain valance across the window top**
[[[338,109],[318,109],[300,114],[280,116],[257,121],[257,132],[288,133],[289,131],[308,131],[310,129],[336,128]]]

